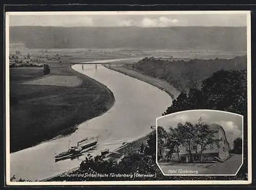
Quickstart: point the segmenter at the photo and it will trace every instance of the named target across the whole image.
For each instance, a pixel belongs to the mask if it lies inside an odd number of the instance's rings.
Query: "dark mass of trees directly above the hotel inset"
[[[220,70],[202,82],[201,89],[181,93],[162,115],[196,109],[232,112],[247,119],[247,73]],[[246,123],[246,122],[245,122]]]

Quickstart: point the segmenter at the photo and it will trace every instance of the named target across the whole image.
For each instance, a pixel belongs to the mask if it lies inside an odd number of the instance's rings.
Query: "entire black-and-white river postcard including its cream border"
[[[5,31],[8,185],[250,183],[249,11],[10,11]],[[212,115],[161,123],[190,110]]]

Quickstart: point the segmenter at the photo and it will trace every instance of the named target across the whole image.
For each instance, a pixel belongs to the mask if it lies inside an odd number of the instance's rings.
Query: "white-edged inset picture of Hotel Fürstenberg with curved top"
[[[164,175],[236,175],[243,164],[243,116],[191,110],[157,118]]]

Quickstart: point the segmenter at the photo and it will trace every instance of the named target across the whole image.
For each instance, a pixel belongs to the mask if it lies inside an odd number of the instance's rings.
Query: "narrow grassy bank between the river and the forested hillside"
[[[161,80],[159,78],[155,78],[152,76],[148,76],[145,74],[142,74],[140,72],[131,70],[129,68],[123,67],[123,66],[116,66],[116,67],[108,67],[108,65],[104,65],[106,68],[112,69],[114,71],[123,73],[125,75],[131,76],[133,78],[142,80],[145,83],[151,84],[157,88],[159,88],[162,91],[165,91],[172,99],[176,99],[180,91],[178,91],[174,86],[170,85],[165,80]]]

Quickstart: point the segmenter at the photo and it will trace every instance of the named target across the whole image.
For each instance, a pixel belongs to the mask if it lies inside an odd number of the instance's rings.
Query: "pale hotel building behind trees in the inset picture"
[[[229,156],[229,143],[226,138],[225,130],[221,125],[210,124],[209,129],[214,133],[214,138],[219,139],[219,147],[216,144],[207,145],[206,150],[203,151],[203,160],[215,160],[215,157],[223,160]],[[164,155],[167,153],[167,149],[164,150]],[[191,146],[191,156],[193,161],[201,160],[201,146]],[[180,161],[188,162],[189,149],[184,145],[179,146],[179,157]],[[172,161],[178,161],[178,154],[176,149],[172,154]]]

